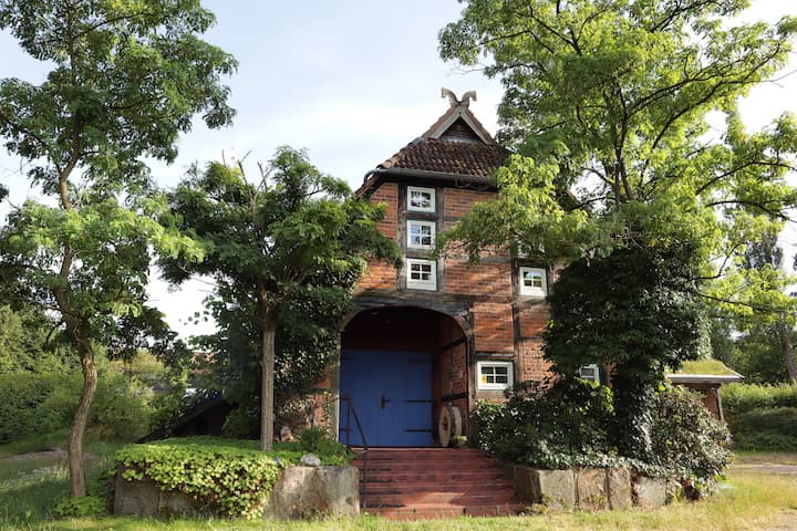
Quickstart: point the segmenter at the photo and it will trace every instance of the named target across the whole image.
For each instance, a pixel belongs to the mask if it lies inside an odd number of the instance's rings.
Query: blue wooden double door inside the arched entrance
[[[424,352],[341,353],[341,396],[354,406],[369,446],[431,446],[432,357]],[[340,440],[362,445],[341,400]]]

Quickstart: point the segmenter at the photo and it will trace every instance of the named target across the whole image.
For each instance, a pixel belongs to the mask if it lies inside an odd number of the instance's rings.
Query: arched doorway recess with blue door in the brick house
[[[363,310],[341,339],[339,438],[370,446],[434,446],[442,404],[467,410],[467,340],[457,321],[415,306]]]

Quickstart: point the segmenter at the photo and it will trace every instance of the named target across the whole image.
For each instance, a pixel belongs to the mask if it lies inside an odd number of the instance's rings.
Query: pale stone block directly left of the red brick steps
[[[275,485],[266,518],[292,520],[360,512],[360,471],[353,467],[291,467]]]

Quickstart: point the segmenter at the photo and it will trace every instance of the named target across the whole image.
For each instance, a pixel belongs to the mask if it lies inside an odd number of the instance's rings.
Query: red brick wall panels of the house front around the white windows
[[[406,222],[400,205],[402,186],[384,183],[371,196],[372,201],[386,205],[380,230],[396,239],[404,233],[402,227]],[[437,195],[442,206],[437,212],[439,231],[452,228],[475,204],[494,197],[494,192],[460,188],[437,188]],[[516,382],[544,378],[549,365],[541,357],[540,334],[548,321],[548,309],[542,301],[517,296],[517,272],[513,271],[516,266],[509,257],[487,253],[480,263],[470,264],[467,257],[451,252],[438,260],[437,267],[438,292],[460,298],[470,308],[473,344],[468,346],[472,352],[479,358],[514,360]],[[391,264],[372,262],[358,290],[394,291],[403,284],[400,274]],[[476,388],[475,381],[467,385],[466,378],[474,376],[475,367],[469,373],[466,369],[465,348],[463,344],[441,354],[441,396]],[[491,399],[500,393],[477,392],[476,396]]]

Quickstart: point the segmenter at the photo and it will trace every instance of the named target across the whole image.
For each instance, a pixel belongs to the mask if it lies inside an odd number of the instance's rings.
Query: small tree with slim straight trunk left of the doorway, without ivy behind
[[[309,322],[300,304],[323,301],[341,314],[366,266],[363,257],[400,260],[395,242],[376,228],[383,209],[351,197],[345,183],[320,173],[306,153],[289,147],[277,150],[255,183],[240,165],[195,168],[170,205],[184,230],[203,242],[205,260],[170,261],[168,277],[211,274],[225,312],[235,312],[225,315],[222,326],[244,329],[245,339],[257,340],[251,352],[259,354],[261,367],[260,444],[269,450],[280,321],[304,319],[307,333],[319,323]],[[328,332],[317,335],[329,337]],[[310,351],[312,358],[328,348]]]

